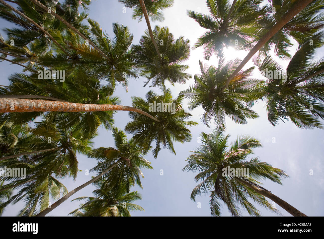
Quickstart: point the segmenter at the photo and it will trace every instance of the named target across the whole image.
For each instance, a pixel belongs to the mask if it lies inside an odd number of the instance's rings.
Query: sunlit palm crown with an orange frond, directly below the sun
[[[182,91],[185,98],[190,99],[189,108],[202,106],[205,113],[202,121],[209,126],[214,118],[217,127],[225,129],[225,117],[229,116],[234,122],[246,124],[247,118],[255,119],[258,114],[250,106],[262,95],[258,87],[262,81],[252,77],[254,67],[241,70],[230,81],[229,86],[222,92],[226,79],[234,72],[240,60],[225,61],[221,57],[218,67],[206,66],[199,61],[201,74],[194,76],[195,83],[187,90]]]

